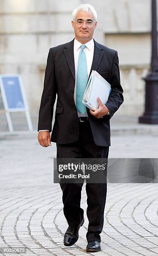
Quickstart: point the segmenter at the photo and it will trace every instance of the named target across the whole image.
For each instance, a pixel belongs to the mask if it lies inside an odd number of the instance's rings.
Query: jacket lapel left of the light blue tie
[[[67,59],[67,63],[72,72],[72,75],[75,80],[75,67],[74,67],[74,39],[69,42],[64,49],[65,58]]]

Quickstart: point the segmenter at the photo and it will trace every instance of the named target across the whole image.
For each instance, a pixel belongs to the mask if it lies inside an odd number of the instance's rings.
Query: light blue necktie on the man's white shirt
[[[82,103],[84,97],[84,91],[88,81],[86,54],[84,52],[85,44],[81,45],[79,52],[78,66],[77,66],[77,110],[82,114],[86,113],[86,107]]]

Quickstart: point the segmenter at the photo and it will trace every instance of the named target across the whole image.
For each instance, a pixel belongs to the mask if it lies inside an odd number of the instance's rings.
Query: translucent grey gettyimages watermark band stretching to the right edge
[[[158,158],[54,159],[54,183],[158,183]]]

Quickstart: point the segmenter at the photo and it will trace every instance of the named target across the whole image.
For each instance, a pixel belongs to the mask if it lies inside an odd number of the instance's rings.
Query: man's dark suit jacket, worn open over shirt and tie
[[[111,94],[106,103],[110,115],[101,119],[93,117],[86,108],[89,122],[98,146],[110,146],[110,118],[123,103],[117,51],[94,41],[91,71],[96,70],[111,84]],[[91,72],[90,72],[91,74]],[[74,102],[75,67],[74,39],[49,49],[44,77],[44,89],[39,109],[38,131],[52,131],[51,141],[58,144],[73,143],[79,138],[79,120]],[[55,122],[52,130],[54,102],[57,95]]]

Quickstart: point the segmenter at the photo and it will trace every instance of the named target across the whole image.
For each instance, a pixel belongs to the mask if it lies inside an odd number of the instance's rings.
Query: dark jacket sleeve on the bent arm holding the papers
[[[110,110],[110,118],[114,115],[114,113],[118,110],[120,105],[123,103],[123,89],[120,84],[120,72],[118,67],[118,54],[117,51],[114,56],[114,61],[111,69],[111,93],[109,95],[109,99],[106,102],[106,107]]]

